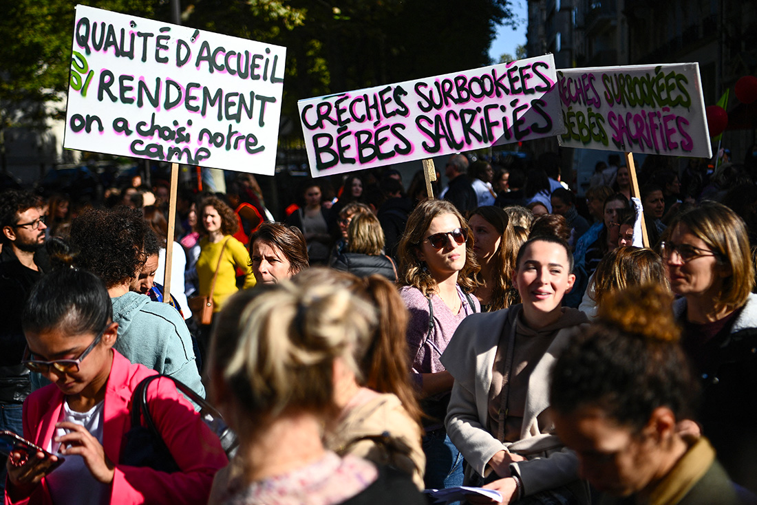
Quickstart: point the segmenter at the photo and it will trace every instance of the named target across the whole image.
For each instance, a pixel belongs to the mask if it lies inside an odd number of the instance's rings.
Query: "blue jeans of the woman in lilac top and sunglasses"
[[[463,455],[444,429],[426,432],[423,437],[426,456],[426,489],[454,488],[463,485]]]

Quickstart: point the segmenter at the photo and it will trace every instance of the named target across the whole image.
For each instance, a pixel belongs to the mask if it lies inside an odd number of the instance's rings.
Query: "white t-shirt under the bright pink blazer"
[[[84,426],[102,444],[104,404],[105,402],[101,401],[87,412],[74,412],[68,407],[68,402],[64,401],[58,422],[75,422]],[[67,430],[57,428],[53,438],[66,434]],[[51,440],[46,448],[49,452],[58,454],[61,444]],[[53,503],[55,505],[101,505],[101,503],[110,503],[111,485],[98,482],[89,472],[83,457],[79,455],[64,457],[66,460],[63,464],[45,477]]]

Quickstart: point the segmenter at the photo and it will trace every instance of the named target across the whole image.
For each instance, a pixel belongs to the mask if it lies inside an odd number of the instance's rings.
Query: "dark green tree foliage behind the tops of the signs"
[[[490,64],[509,0],[182,0],[182,24],[287,48],[283,114],[301,98]],[[81,0],[171,20],[170,0]],[[13,0],[0,17],[3,126],[61,117],[75,11],[69,0]],[[55,104],[58,103],[58,107]],[[51,107],[53,104],[53,107]],[[298,122],[297,122],[298,123]]]

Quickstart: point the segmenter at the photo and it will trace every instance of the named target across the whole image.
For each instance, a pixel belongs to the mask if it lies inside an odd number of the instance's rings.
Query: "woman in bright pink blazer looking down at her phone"
[[[52,455],[11,452],[5,503],[207,503],[226,454],[168,379],[147,398],[179,472],[120,464],[132,392],[155,372],[114,350],[118,323],[97,276],[64,269],[42,278],[23,329],[23,364],[53,382],[23,404],[23,436]]]

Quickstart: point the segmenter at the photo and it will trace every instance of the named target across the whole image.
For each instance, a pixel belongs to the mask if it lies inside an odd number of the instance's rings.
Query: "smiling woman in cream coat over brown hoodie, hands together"
[[[467,318],[441,357],[454,378],[445,423],[468,463],[466,482],[500,491],[503,503],[588,503],[575,454],[553,435],[547,395],[554,360],[588,322],[562,307],[572,269],[562,238],[530,238],[512,274],[522,304]]]

